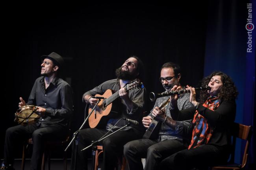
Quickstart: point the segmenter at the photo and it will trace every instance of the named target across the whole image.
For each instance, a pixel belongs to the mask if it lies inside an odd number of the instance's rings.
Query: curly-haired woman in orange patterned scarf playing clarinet
[[[179,111],[178,96],[170,97],[173,119],[167,117],[166,123],[180,135],[190,134],[191,143],[187,149],[170,154],[161,161],[161,170],[208,169],[208,166],[223,164],[228,160],[231,151],[230,127],[236,116],[235,99],[238,92],[231,78],[222,72],[211,73],[203,79],[202,85],[208,85],[211,89],[200,92],[200,102],[195,98],[195,89],[187,86],[190,90],[189,100],[195,107]],[[178,88],[174,86],[173,89]],[[162,114],[155,116],[165,119]],[[191,120],[180,122],[187,119]]]

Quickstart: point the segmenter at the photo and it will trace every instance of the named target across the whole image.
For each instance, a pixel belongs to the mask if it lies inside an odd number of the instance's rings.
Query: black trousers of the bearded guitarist
[[[89,146],[92,141],[97,141],[107,130],[87,128],[80,131],[78,135],[78,157],[76,170],[87,170],[87,155],[91,154],[91,148],[80,151]],[[122,155],[123,146],[129,141],[141,138],[143,133],[130,129],[119,131],[102,141],[103,145],[103,165],[102,170],[113,170],[117,165],[117,156]],[[89,152],[89,153],[88,153]],[[74,161],[72,161],[74,162]],[[74,168],[73,165],[71,167]]]

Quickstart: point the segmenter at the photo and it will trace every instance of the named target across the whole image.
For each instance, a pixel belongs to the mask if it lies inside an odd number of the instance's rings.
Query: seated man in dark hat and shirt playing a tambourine
[[[26,126],[20,124],[6,130],[4,163],[1,170],[14,169],[14,146],[22,140],[32,137],[31,170],[40,170],[44,141],[62,140],[67,137],[67,124],[73,112],[73,101],[70,85],[58,78],[58,72],[63,69],[64,60],[54,52],[41,56],[41,59],[43,61],[41,77],[35,80],[28,102],[26,103],[22,97],[19,102],[19,108],[26,107],[25,105],[36,106],[35,113],[41,117],[33,124]]]

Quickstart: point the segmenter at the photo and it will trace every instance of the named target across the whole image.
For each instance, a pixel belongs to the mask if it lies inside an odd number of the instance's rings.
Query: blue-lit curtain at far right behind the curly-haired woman
[[[245,28],[249,9],[247,4],[254,6],[255,1],[212,0],[208,6],[208,20],[206,33],[206,53],[204,60],[204,75],[212,71],[223,71],[235,82],[239,91],[236,122],[252,125],[255,132],[255,30],[249,33]],[[254,21],[255,25],[255,21]],[[248,36],[252,37],[252,53],[247,52]],[[255,166],[255,134],[250,144],[248,165]],[[243,158],[245,143],[237,140],[236,162]]]

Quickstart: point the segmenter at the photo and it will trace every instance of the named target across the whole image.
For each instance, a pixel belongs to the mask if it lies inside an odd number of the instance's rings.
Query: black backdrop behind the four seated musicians
[[[145,64],[143,82],[148,92],[163,91],[158,77],[161,65],[168,61],[180,64],[183,85],[196,87],[215,70],[231,74],[242,93],[238,105],[243,110],[246,1],[30,5],[7,5],[2,20],[1,158],[5,130],[15,125],[19,97],[27,101],[35,79],[40,76],[40,56],[53,51],[65,59],[65,80],[74,91],[72,132],[84,119],[83,93],[114,79],[115,69],[130,55],[136,55]],[[229,24],[231,29],[227,29],[225,24],[233,20],[235,25]],[[225,42],[230,32],[235,38]],[[228,50],[239,53],[229,54]],[[225,52],[225,56],[230,56],[220,57]],[[241,67],[238,75],[237,64]],[[147,102],[149,112],[154,103],[149,99]],[[236,122],[243,123],[243,113],[237,114],[241,119]],[[20,157],[21,151],[17,149],[17,158]],[[54,157],[60,157],[58,151]]]

